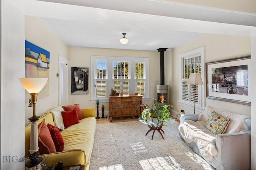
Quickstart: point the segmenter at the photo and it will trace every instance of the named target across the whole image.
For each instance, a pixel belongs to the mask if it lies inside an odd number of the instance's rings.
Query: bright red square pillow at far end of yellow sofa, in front
[[[78,115],[76,113],[76,108],[74,108],[70,111],[62,111],[61,114],[63,117],[63,122],[64,122],[65,128],[79,123]]]

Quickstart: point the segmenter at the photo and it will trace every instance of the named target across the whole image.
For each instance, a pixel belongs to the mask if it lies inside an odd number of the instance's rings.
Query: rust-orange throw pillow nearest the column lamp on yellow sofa
[[[40,154],[56,153],[52,136],[46,124],[43,121],[38,127],[38,147]]]

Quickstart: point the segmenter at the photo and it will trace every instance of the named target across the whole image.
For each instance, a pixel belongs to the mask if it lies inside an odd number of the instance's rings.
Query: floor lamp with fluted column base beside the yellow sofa
[[[36,116],[36,100],[38,93],[42,90],[46,84],[48,78],[19,78],[22,86],[29,92],[31,96],[31,102],[33,103],[33,116],[28,118],[31,122],[30,131],[30,150],[29,161],[25,163],[26,170],[41,170],[42,157],[39,156],[38,151],[38,131],[37,121],[40,116]]]

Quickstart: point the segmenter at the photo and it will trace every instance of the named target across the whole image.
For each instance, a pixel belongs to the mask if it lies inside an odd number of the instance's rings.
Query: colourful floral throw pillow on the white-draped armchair
[[[229,123],[230,118],[224,117],[213,111],[208,121],[206,122],[205,127],[212,133],[218,135],[226,131]]]

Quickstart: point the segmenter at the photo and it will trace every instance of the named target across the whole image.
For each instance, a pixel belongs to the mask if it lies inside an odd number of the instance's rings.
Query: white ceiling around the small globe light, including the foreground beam
[[[168,0],[12,0],[37,16],[71,47],[155,51],[206,33],[256,35],[256,12],[238,12]],[[127,44],[121,44],[127,33]]]

